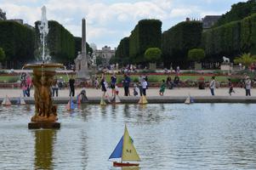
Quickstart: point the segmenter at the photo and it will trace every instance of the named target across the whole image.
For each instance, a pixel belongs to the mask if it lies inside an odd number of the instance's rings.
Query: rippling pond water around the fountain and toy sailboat
[[[29,130],[33,105],[0,107],[0,169],[121,169],[127,124],[139,169],[256,169],[256,105],[58,105],[60,130]]]

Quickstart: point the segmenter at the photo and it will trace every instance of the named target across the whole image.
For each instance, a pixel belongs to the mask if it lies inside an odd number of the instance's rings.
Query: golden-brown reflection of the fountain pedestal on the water
[[[56,130],[36,130],[35,132],[35,169],[53,169],[54,142]]]

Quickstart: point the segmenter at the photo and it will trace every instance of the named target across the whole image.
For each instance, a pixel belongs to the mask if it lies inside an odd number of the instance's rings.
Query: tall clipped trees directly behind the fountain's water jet
[[[40,37],[38,25],[40,21],[35,23],[36,28],[36,47],[40,48]],[[52,60],[56,62],[69,62],[75,59],[75,40],[70,31],[57,21],[48,21],[47,47]]]

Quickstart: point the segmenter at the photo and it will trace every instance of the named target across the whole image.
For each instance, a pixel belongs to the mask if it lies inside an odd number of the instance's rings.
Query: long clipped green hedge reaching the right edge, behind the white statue
[[[256,14],[202,33],[202,46],[208,60],[234,59],[242,53],[256,53]]]

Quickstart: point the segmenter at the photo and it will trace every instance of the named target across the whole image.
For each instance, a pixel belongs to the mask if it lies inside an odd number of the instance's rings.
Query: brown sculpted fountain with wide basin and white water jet
[[[34,84],[35,115],[31,117],[28,128],[60,128],[57,122],[57,106],[53,105],[51,97],[51,86],[54,83],[55,70],[63,68],[62,64],[47,63],[50,57],[45,56],[45,38],[48,34],[48,20],[46,18],[46,8],[42,8],[42,19],[39,25],[40,39],[43,45],[43,63],[26,64],[24,68],[33,70],[32,82]]]

